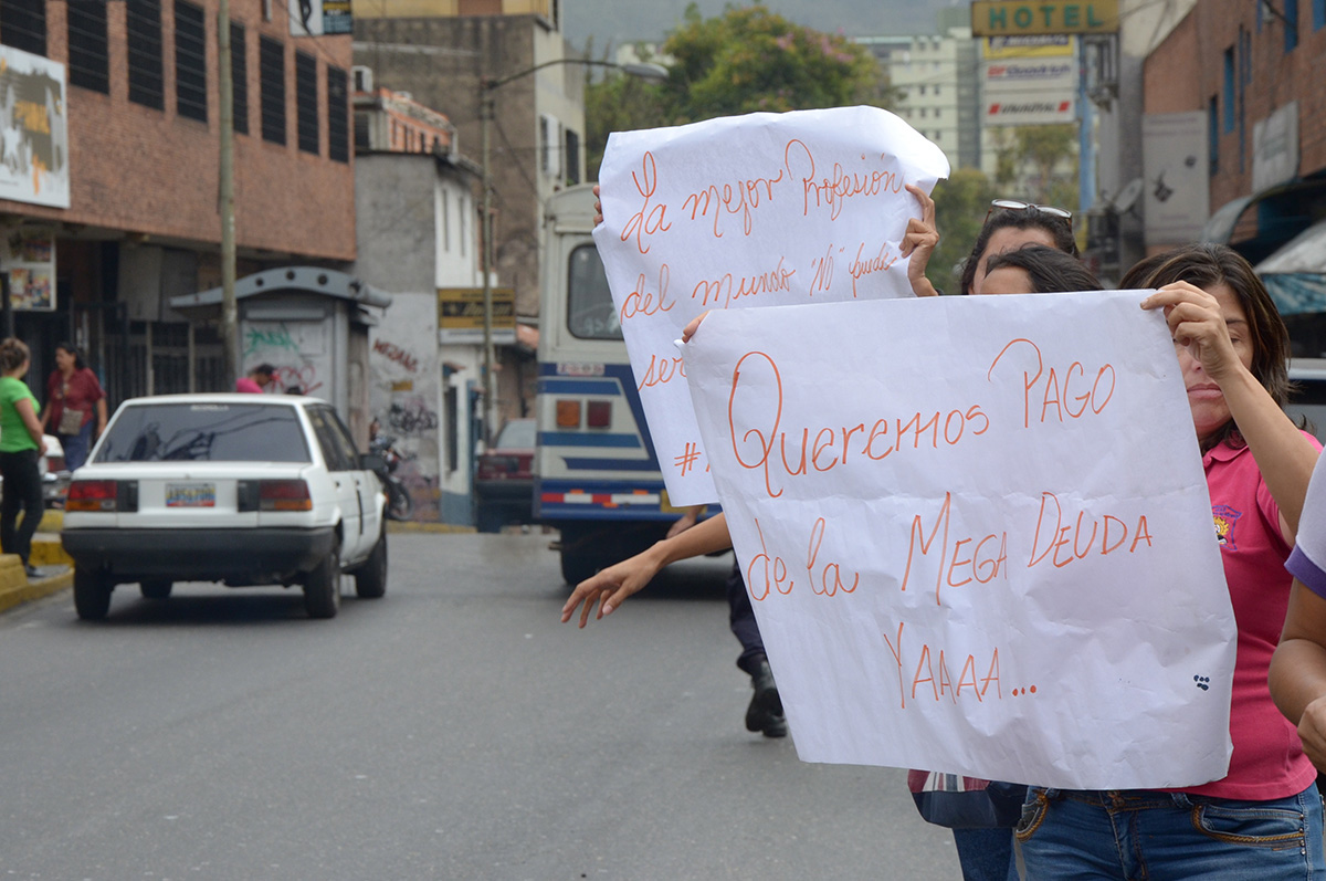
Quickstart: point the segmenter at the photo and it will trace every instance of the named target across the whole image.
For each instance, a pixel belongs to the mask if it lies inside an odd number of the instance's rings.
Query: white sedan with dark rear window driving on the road
[[[80,618],[105,618],[118,584],[164,600],[175,581],[300,585],[310,617],[387,586],[386,495],[326,402],[175,394],[126,401],[65,502]]]

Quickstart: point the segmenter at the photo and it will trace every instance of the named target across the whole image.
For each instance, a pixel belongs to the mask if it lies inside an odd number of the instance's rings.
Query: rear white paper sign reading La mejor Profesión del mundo
[[[899,243],[948,161],[876,107],[614,133],[599,171],[607,271],[674,504],[715,502],[674,341],[705,309],[911,296]]]

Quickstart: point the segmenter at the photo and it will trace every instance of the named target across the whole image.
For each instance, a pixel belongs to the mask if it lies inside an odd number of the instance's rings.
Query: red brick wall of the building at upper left
[[[0,200],[0,212],[143,232],[163,244],[219,243],[217,178],[220,90],[217,84],[216,0],[192,0],[207,23],[207,123],[175,113],[174,0],[162,1],[164,110],[129,101],[125,4],[107,5],[110,94],[69,86],[70,207]],[[289,36],[286,4],[231,0],[231,17],[245,28],[248,130],[235,135],[235,216],[240,248],[289,252],[324,260],[353,260],[353,163],[328,158],[326,68],[350,72],[350,37]],[[48,57],[68,64],[64,0],[48,0]],[[259,36],[280,38],[285,52],[286,143],[263,141]],[[320,155],[297,146],[294,50],[318,58]],[[236,72],[239,76],[239,72]],[[347,90],[349,100],[349,90]],[[350,118],[349,110],[346,118]],[[351,141],[350,135],[346,135]],[[351,147],[353,154],[353,147]],[[353,155],[351,155],[353,161]]]

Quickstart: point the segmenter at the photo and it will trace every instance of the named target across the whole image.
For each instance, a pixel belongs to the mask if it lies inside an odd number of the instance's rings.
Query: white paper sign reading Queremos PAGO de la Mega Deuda
[[[751,309],[687,344],[804,760],[1102,789],[1225,775],[1233,610],[1142,296]]]

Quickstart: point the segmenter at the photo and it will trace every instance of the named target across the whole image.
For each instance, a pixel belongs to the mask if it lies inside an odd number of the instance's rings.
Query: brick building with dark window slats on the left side
[[[355,256],[351,40],[292,37],[286,7],[229,4],[241,277],[292,263],[338,268]],[[195,338],[166,305],[220,281],[216,13],[216,0],[0,3],[0,77],[29,64],[64,76],[64,93],[52,97],[61,85],[50,86],[46,103],[65,204],[5,188],[7,170],[24,179],[21,162],[0,166],[4,237],[50,241],[54,256],[53,309],[15,314],[33,348],[34,387],[66,338],[88,353],[113,403],[187,390],[190,346],[196,386],[221,382],[215,336]],[[0,103],[0,122],[12,122],[15,106]],[[30,109],[17,115],[34,119]],[[29,126],[28,138],[41,127]]]

